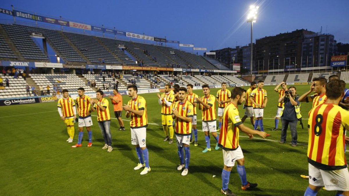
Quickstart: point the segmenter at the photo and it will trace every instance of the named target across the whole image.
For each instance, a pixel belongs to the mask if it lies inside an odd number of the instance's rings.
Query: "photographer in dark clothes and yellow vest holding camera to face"
[[[290,125],[291,130],[291,146],[297,146],[297,121],[302,118],[300,115],[300,103],[298,101],[299,95],[296,94],[296,87],[291,86],[288,91],[285,91],[285,94],[280,97],[279,103],[284,103],[281,112],[281,140],[280,144],[286,142],[286,134],[288,125]]]

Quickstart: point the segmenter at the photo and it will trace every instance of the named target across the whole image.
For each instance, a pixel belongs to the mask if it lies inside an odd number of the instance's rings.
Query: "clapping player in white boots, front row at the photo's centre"
[[[178,101],[173,106],[172,118],[176,118],[176,139],[178,146],[178,156],[180,164],[177,170],[183,170],[181,175],[188,174],[188,167],[190,162],[190,135],[192,132],[192,118],[193,118],[193,104],[186,100],[187,89],[180,87],[178,89]],[[183,152],[185,151],[185,156]],[[185,157],[185,161],[184,161]]]

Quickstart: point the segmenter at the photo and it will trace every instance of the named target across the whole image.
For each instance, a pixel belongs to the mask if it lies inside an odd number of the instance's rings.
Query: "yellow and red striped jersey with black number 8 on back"
[[[309,113],[308,162],[320,169],[347,167],[344,154],[349,113],[336,104],[320,104]]]

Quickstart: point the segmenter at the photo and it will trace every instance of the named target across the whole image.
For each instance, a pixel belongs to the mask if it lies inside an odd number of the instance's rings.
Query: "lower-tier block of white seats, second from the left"
[[[77,88],[82,87],[85,92],[95,92],[90,86],[82,81],[77,75],[74,74],[29,74],[31,79],[37,86],[50,86],[53,90],[53,86],[59,86],[61,89],[67,89],[70,92],[76,93]]]

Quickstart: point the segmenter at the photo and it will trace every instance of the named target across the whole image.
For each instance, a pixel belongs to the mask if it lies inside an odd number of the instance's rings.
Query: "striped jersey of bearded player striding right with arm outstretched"
[[[237,126],[240,124],[242,121],[238,108],[233,103],[229,103],[224,109],[218,146],[226,150],[237,149],[239,147],[239,129]]]

